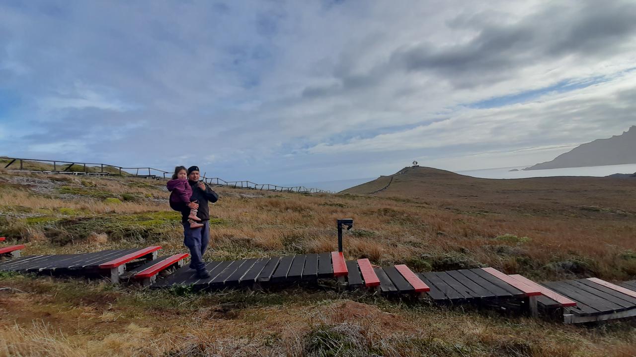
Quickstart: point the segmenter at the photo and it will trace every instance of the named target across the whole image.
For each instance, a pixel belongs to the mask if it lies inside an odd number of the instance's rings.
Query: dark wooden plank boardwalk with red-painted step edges
[[[597,278],[542,284],[487,267],[414,273],[404,264],[372,266],[368,259],[345,261],[339,252],[207,262],[209,278],[185,266],[188,253],[157,258],[160,246],[63,255],[27,255],[0,263],[0,271],[47,275],[106,276],[142,281],[151,288],[192,286],[215,290],[236,286],[286,285],[335,278],[350,290],[387,296],[411,295],[436,304],[517,306],[532,316],[559,316],[565,323],[636,316],[636,281],[614,285]],[[174,271],[170,268],[175,268]],[[159,273],[170,274],[160,277]]]

